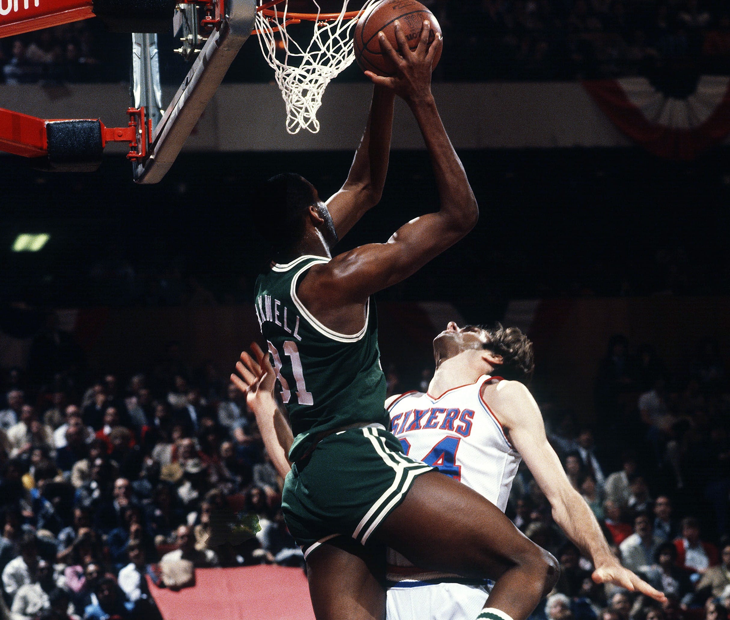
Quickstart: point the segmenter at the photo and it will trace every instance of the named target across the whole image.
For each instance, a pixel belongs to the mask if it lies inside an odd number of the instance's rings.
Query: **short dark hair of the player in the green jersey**
[[[287,250],[304,234],[304,216],[316,200],[312,183],[293,172],[285,172],[256,188],[250,216],[274,251]]]

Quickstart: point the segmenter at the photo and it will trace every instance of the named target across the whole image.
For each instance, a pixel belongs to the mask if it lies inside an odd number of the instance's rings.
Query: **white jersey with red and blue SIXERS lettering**
[[[499,380],[482,375],[475,383],[450,389],[439,398],[406,392],[388,411],[391,432],[408,456],[435,465],[504,512],[521,457],[481,397],[485,383]],[[388,564],[389,581],[447,576],[409,570],[412,564],[392,550],[388,550]]]

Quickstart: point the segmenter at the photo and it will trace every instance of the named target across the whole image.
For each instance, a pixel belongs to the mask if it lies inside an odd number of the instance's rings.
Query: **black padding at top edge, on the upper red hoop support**
[[[112,32],[172,31],[177,0],[93,0],[93,12]]]

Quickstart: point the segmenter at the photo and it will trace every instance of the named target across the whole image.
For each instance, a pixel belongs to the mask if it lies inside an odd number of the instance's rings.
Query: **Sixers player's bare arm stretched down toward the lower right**
[[[496,386],[483,386],[483,396],[545,493],[556,523],[591,557],[595,567],[593,581],[608,581],[664,600],[664,594],[621,566],[611,553],[591,508],[571,486],[558,455],[548,443],[542,415],[529,390],[518,381],[501,381]]]

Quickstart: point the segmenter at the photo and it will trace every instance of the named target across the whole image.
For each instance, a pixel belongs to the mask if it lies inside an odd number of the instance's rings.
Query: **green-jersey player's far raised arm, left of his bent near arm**
[[[372,209],[383,194],[391,153],[395,93],[375,85],[365,133],[342,188],[326,202],[337,237],[342,237]]]

